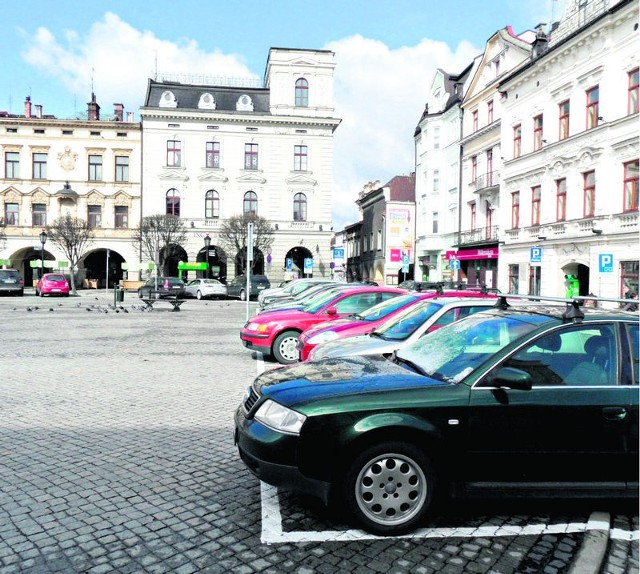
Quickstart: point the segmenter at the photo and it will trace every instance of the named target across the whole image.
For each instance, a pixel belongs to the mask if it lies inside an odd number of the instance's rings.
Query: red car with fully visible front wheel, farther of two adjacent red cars
[[[298,335],[317,323],[360,313],[392,297],[405,295],[397,287],[354,287],[328,291],[301,310],[288,309],[260,313],[240,331],[245,347],[273,356],[283,365],[299,360]]]

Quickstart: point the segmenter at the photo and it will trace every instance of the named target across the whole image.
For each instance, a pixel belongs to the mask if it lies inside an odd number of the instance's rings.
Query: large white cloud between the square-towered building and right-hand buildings
[[[358,221],[363,186],[415,169],[413,133],[437,68],[461,72],[479,53],[467,42],[452,51],[423,39],[390,49],[352,36],[332,42],[336,53],[335,107],[343,119],[335,136],[334,229]]]

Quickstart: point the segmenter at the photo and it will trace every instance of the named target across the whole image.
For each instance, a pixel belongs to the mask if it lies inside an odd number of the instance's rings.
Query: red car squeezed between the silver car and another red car
[[[430,291],[412,291],[401,297],[396,297],[392,301],[385,301],[371,309],[367,309],[365,313],[358,314],[355,317],[348,317],[331,321],[331,323],[320,323],[309,327],[298,337],[298,351],[300,360],[306,361],[309,358],[311,350],[321,343],[342,339],[344,337],[352,337],[355,335],[366,335],[371,333],[390,319],[397,315],[407,307],[410,307],[417,301],[424,299],[434,299],[436,297],[474,297],[484,298],[496,295],[472,290],[430,290]]]

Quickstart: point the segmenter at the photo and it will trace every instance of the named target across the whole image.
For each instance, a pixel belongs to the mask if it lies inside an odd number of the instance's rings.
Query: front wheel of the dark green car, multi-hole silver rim
[[[343,499],[354,520],[381,535],[414,530],[433,501],[435,473],[416,446],[383,442],[356,456],[343,482]]]

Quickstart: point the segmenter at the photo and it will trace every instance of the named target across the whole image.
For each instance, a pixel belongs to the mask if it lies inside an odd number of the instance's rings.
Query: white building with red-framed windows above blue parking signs
[[[500,289],[637,292],[637,22],[637,0],[567,0],[501,81]]]

